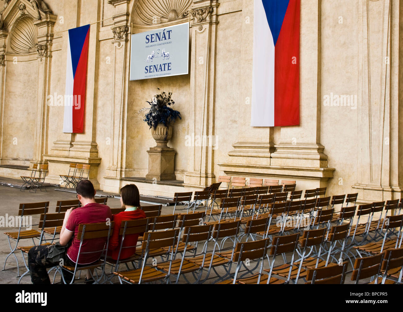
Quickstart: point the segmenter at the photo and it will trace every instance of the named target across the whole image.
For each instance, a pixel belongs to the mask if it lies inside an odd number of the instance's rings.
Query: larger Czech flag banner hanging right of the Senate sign
[[[300,0],[254,0],[251,126],[299,125]]]

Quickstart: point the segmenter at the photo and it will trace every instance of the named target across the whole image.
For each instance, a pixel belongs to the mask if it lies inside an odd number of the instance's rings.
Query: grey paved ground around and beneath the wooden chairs
[[[6,180],[6,178],[1,178],[2,180]],[[60,191],[56,191],[53,188],[47,189],[47,192],[37,191],[37,193],[29,193],[29,191],[22,192],[18,188],[11,188],[7,186],[0,186],[0,216],[17,216],[18,209],[20,203],[33,203],[33,202],[41,202],[41,201],[50,201],[50,211],[52,211],[53,207],[56,207],[56,201],[58,200],[69,200],[76,199],[75,194],[72,193],[64,193]],[[147,204],[144,204],[147,205]],[[108,206],[111,208],[120,207],[120,201],[114,198],[108,198]],[[203,209],[204,210],[204,209]],[[162,208],[162,214],[172,214],[173,207],[165,207]],[[33,219],[33,224],[37,224],[38,220]],[[3,268],[4,261],[6,259],[6,255],[9,253],[10,248],[8,246],[8,239],[3,232],[8,231],[18,231],[18,228],[10,228],[10,227],[0,227],[0,265],[1,269]],[[29,243],[24,242],[26,245],[31,245],[32,241]],[[230,246],[231,243],[227,241],[226,246]],[[14,246],[14,245],[13,245]],[[210,245],[209,245],[210,246]],[[290,255],[291,256],[291,255]],[[23,259],[21,252],[17,253],[17,257],[20,262],[20,274],[25,272],[25,267],[23,265]],[[290,258],[287,256],[287,258]],[[160,261],[160,258],[157,260]],[[151,262],[150,262],[151,263]],[[276,263],[277,264],[277,263]],[[267,261],[265,262],[265,267],[268,267]],[[235,267],[233,266],[233,270]],[[233,271],[232,270],[232,271]],[[351,270],[351,265],[349,265],[348,270]],[[223,269],[218,269],[220,274],[224,273]],[[85,274],[83,274],[85,275]],[[212,274],[214,275],[214,273]],[[51,276],[51,278],[53,275]],[[17,264],[15,262],[15,258],[10,256],[8,258],[6,270],[0,271],[0,284],[15,284],[18,283],[19,278],[17,278]],[[56,281],[59,281],[60,278],[57,277]],[[116,279],[114,279],[116,281]],[[180,279],[182,283],[185,282],[183,278]],[[365,281],[365,280],[364,280]],[[30,283],[29,275],[25,276],[21,283],[28,284]],[[211,283],[212,281],[207,281],[206,283]],[[304,283],[302,280],[299,283]],[[345,283],[353,283],[351,281],[351,273],[347,274]]]

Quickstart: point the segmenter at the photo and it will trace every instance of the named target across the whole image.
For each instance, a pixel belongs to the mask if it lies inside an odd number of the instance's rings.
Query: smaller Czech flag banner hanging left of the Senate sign
[[[84,132],[89,25],[69,29],[63,132]]]

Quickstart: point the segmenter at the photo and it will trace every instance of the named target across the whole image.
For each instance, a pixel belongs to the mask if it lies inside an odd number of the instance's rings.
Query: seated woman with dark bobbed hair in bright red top
[[[113,260],[118,259],[120,243],[122,241],[122,235],[119,235],[122,221],[145,218],[145,212],[140,208],[139,189],[134,184],[123,186],[120,189],[120,205],[122,208],[126,209],[125,211],[113,215],[113,221],[115,223],[108,245],[108,256],[112,257]],[[142,233],[125,235],[125,240],[123,241],[122,251],[120,252],[119,259],[127,259],[134,255],[136,247],[123,247],[136,246],[137,239],[139,238],[140,234]]]

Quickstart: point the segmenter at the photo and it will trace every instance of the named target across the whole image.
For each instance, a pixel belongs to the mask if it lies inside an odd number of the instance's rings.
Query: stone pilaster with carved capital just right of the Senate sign
[[[216,1],[194,1],[189,10],[191,32],[189,135],[203,138],[189,147],[186,186],[214,182],[214,73],[217,34]],[[194,137],[193,136],[193,137]],[[211,144],[210,144],[211,143]],[[196,144],[192,144],[196,145]]]

